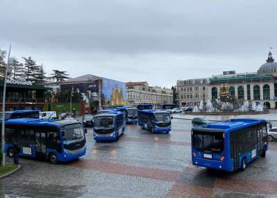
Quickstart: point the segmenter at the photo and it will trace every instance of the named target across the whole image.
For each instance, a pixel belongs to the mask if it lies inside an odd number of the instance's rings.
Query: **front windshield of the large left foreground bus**
[[[84,138],[84,130],[80,124],[64,126],[64,140],[76,141]]]

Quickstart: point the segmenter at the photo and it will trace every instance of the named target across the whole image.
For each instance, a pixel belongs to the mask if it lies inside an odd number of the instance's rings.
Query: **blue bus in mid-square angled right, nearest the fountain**
[[[171,131],[171,119],[168,111],[145,109],[139,111],[138,124],[152,133]]]

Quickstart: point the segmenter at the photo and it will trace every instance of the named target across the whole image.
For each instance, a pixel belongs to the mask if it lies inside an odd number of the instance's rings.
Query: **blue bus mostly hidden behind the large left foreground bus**
[[[0,113],[0,119],[2,118],[2,113]],[[6,111],[5,120],[17,119],[17,118],[37,118],[39,119],[39,110],[16,110],[16,111]]]

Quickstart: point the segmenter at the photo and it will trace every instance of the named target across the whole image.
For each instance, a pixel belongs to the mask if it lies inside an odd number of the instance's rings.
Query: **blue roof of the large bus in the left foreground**
[[[72,125],[80,123],[77,120],[42,120],[37,118],[17,118],[7,120],[6,124],[33,125],[33,126],[49,126],[63,127],[64,125]]]

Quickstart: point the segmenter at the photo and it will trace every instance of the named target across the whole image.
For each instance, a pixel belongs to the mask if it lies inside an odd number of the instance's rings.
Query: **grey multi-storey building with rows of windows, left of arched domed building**
[[[181,106],[199,105],[208,99],[208,78],[177,80],[177,101]]]

